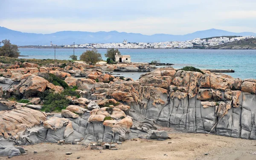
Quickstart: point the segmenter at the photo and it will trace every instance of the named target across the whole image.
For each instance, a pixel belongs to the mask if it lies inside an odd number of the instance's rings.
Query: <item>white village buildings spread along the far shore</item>
[[[193,48],[194,46],[216,46],[224,43],[229,43],[238,40],[244,40],[249,38],[256,38],[255,36],[242,36],[242,37],[219,37],[211,39],[195,38],[193,40],[186,41],[170,41],[170,42],[157,42],[157,43],[130,43],[127,40],[123,40],[123,43],[85,43],[75,45],[65,45],[64,47],[75,48],[87,48],[87,49],[175,49],[175,48]],[[51,46],[57,46],[52,45]]]

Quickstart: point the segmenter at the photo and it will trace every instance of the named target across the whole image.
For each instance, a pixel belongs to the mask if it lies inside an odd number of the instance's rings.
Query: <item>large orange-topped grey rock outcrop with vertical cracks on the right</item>
[[[204,73],[159,68],[138,81],[92,88],[90,95],[105,94],[131,106],[134,120],[150,118],[161,126],[188,132],[256,139],[256,80]],[[88,95],[84,97],[93,99]]]

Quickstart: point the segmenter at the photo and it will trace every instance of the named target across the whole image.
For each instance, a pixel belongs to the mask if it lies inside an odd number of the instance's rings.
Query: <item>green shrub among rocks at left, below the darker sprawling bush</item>
[[[41,110],[45,112],[52,112],[52,111],[60,112],[61,109],[66,109],[68,105],[69,105],[69,100],[67,100],[67,98],[63,94],[50,92],[44,98],[44,106],[42,107]]]

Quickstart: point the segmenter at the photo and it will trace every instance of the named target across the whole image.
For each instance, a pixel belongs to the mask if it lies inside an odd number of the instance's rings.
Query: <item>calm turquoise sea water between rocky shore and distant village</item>
[[[79,57],[87,49],[75,49]],[[98,49],[102,59],[107,49]],[[199,69],[234,69],[227,73],[233,77],[256,79],[256,50],[200,50],[200,49],[120,49],[121,54],[131,55],[132,62],[151,62],[175,64],[174,68],[194,66]],[[54,49],[20,49],[21,55],[35,59],[54,59]],[[56,59],[69,60],[73,49],[56,49]],[[136,79],[136,78],[135,78]]]

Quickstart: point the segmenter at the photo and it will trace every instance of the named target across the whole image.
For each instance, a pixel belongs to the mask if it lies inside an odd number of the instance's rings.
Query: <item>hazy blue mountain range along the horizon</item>
[[[220,29],[208,29],[204,31],[196,31],[194,33],[185,35],[172,35],[172,34],[153,34],[144,35],[139,33],[126,33],[118,31],[58,31],[51,34],[35,34],[23,33],[14,31],[5,27],[0,27],[0,40],[9,39],[11,43],[18,46],[26,45],[48,45],[50,41],[57,45],[67,45],[75,42],[76,44],[83,43],[122,43],[123,40],[128,42],[166,42],[166,41],[185,41],[194,38],[206,38],[216,36],[256,36],[253,32],[234,33]]]

